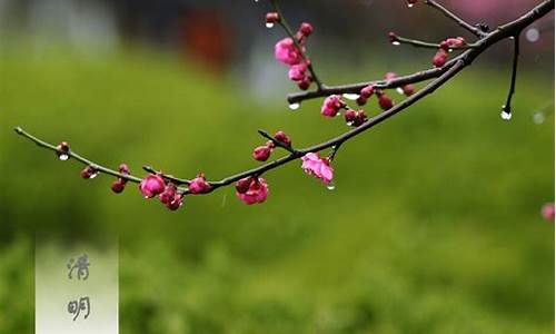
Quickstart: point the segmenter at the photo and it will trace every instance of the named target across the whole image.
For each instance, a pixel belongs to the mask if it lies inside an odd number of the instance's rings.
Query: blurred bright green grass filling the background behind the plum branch
[[[346,128],[319,101],[254,107],[232,79],[167,55],[3,49],[0,333],[33,327],[36,230],[119,234],[122,333],[554,332],[554,225],[538,214],[554,200],[554,117],[532,121],[553,82],[520,72],[504,122],[507,77],[471,68],[355,138],[334,191],[294,163],[266,176],[265,205],[229,188],[169,213],[135,186],[116,196],[108,177],[83,181],[11,128],[106,165],[211,179],[254,165],[258,128],[297,146]]]

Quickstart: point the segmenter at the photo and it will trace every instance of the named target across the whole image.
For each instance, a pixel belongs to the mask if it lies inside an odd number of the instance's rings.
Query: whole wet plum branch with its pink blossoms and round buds
[[[338,112],[340,112],[340,110],[345,109],[346,120],[348,120],[349,118],[350,121],[348,121],[348,125],[354,126],[354,128],[324,143],[315,144],[312,146],[300,149],[294,148],[291,145],[291,139],[282,131],[278,131],[274,136],[271,136],[264,130],[259,130],[258,132],[262,136],[262,138],[268,139],[268,141],[266,143],[266,145],[259,146],[254,150],[255,159],[266,161],[269,158],[271,151],[277,147],[284,149],[287,155],[258,167],[227,176],[220,180],[206,180],[203,174],[198,174],[197,177],[192,179],[179,178],[172,175],[163,174],[150,166],[143,166],[143,170],[146,170],[149,175],[146,178],[140,178],[138,176],[131,175],[127,166],[126,168],[123,168],[120,165],[120,171],[117,171],[115,169],[101,166],[100,164],[93,163],[92,160],[75,153],[66,143],[61,143],[60,145],[54,146],[30,135],[20,127],[17,127],[14,130],[18,135],[21,135],[22,137],[33,141],[39,147],[54,151],[60,158],[71,158],[82,165],[86,165],[87,167],[81,174],[85,178],[92,178],[92,175],[97,174],[107,174],[113,176],[118,178],[118,181],[120,183],[119,186],[121,186],[116,188],[112,186],[112,190],[115,190],[116,193],[121,191],[123,188],[122,185],[125,185],[127,181],[139,184],[140,190],[146,197],[159,196],[160,200],[165,203],[166,206],[170,209],[179,208],[185,195],[209,194],[220,187],[225,187],[234,183],[236,184],[236,195],[246,204],[261,203],[267,198],[268,194],[268,185],[266,180],[261,178],[265,173],[286,165],[290,161],[301,159],[301,167],[306,173],[316,176],[317,178],[321,179],[322,183],[328,185],[331,181],[334,170],[330,164],[335,159],[338,149],[346,141],[355,136],[368,131],[370,128],[387,120],[394,115],[406,110],[411,105],[416,104],[420,99],[443,87],[458,72],[470,66],[477,57],[487,51],[492,46],[498,43],[502,40],[512,38],[514,41],[512,80],[506,105],[503,108],[503,112],[506,110],[506,112],[509,115],[510,102],[515,92],[517,76],[519,36],[526,27],[537,21],[548,12],[553,11],[554,1],[555,0],[544,0],[522,17],[487,32],[486,29],[474,27],[467,23],[453,12],[448,11],[443,6],[438,4],[436,1],[425,0],[426,4],[433,7],[436,10],[439,10],[445,16],[456,21],[459,26],[473,32],[478,37],[478,40],[474,41],[473,43],[468,43],[463,38],[448,38],[441,43],[428,43],[395,36],[396,40],[399,42],[417,47],[438,49],[438,52],[434,58],[434,63],[436,67],[405,76],[395,76],[393,73],[388,73],[384,79],[378,80],[356,82],[342,86],[326,86],[317,78],[315,69],[306,55],[305,47],[300,42],[304,41],[312,31],[312,27],[304,26],[308,24],[304,23],[300,31],[298,31],[297,35],[294,35],[292,30],[289,28],[289,24],[284,19],[282,12],[278,7],[278,1],[270,0],[270,3],[272,4],[272,8],[276,12],[271,13],[271,16],[267,14],[267,22],[269,20],[271,22],[278,22],[286,31],[288,38],[291,39],[291,41],[282,40],[277,43],[277,48],[282,48],[278,50],[280,51],[280,53],[277,53],[277,59],[284,60],[282,62],[290,66],[290,71],[294,70],[294,73],[290,75],[290,78],[295,77],[294,80],[297,80],[297,71],[304,75],[305,70],[308,70],[310,73],[310,79],[317,84],[317,89],[290,94],[287,97],[287,100],[290,104],[299,104],[308,99],[327,97],[324,101],[321,114],[326,117],[334,117]],[[411,0],[409,2],[415,3],[417,1]],[[393,38],[393,36],[390,36],[390,38]],[[448,49],[457,49],[461,52],[453,59],[447,60]],[[424,81],[428,82],[419,90],[415,90],[413,87],[410,87],[410,85],[413,84]],[[394,104],[389,98],[386,97],[384,92],[384,90],[386,89],[394,88],[403,89],[408,97],[399,104]],[[357,95],[359,97],[357,99],[358,105],[365,105],[366,100],[371,95],[376,94],[383,111],[375,117],[367,119],[367,116],[363,110],[356,111],[351,109],[347,105],[347,102],[342,101],[337,96],[342,94]],[[328,155],[321,157],[319,153],[327,149],[329,149]]]

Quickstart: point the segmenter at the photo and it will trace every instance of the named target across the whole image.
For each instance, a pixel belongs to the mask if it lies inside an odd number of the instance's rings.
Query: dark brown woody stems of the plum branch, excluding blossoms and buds
[[[399,87],[399,86],[407,85],[407,84],[425,81],[428,79],[436,78],[435,80],[429,82],[427,86],[425,86],[423,89],[418,90],[417,92],[415,92],[414,95],[411,95],[410,97],[405,99],[404,101],[399,102],[398,105],[395,105],[393,108],[379,114],[378,116],[368,119],[361,126],[354,128],[354,129],[351,129],[342,135],[339,135],[335,138],[331,138],[325,143],[320,143],[320,144],[317,144],[315,146],[310,146],[310,147],[307,147],[304,149],[294,150],[288,156],[279,158],[279,159],[274,160],[271,163],[268,163],[266,165],[231,175],[231,176],[226,177],[226,178],[218,180],[218,181],[211,181],[209,184],[212,187],[208,193],[211,193],[219,187],[230,185],[230,184],[232,184],[237,180],[240,180],[242,178],[246,178],[246,177],[260,176],[268,170],[271,170],[271,169],[277,168],[281,165],[285,165],[287,163],[296,160],[296,159],[302,157],[304,155],[306,155],[307,153],[317,153],[317,151],[320,151],[320,150],[324,150],[327,148],[332,148],[331,155],[334,158],[335,153],[340,147],[340,145],[342,145],[345,141],[347,141],[350,138],[373,128],[374,126],[383,122],[384,120],[393,117],[394,115],[407,109],[409,106],[414,105],[415,102],[423,99],[427,95],[433,94],[436,89],[438,89],[445,82],[447,82],[449,79],[451,79],[454,76],[456,76],[460,70],[463,70],[465,67],[469,66],[475,60],[475,58],[477,58],[479,55],[485,52],[489,47],[492,47],[493,45],[499,42],[500,40],[507,39],[509,37],[516,37],[515,58],[514,58],[514,68],[516,68],[517,55],[518,55],[517,37],[523,31],[523,29],[525,29],[527,26],[529,26],[530,23],[535,22],[539,18],[544,17],[545,14],[547,14],[548,12],[554,10],[554,1],[555,0],[545,0],[542,3],[539,3],[537,7],[532,9],[529,12],[522,16],[520,18],[502,26],[498,29],[496,29],[489,33],[485,33],[485,36],[479,41],[476,42],[475,48],[464,51],[461,55],[454,58],[451,61],[448,61],[443,68],[429,69],[429,70],[425,70],[425,71],[417,72],[414,75],[398,77],[398,78],[395,78],[391,80],[377,80],[377,81],[370,81],[370,82],[365,82],[365,84],[355,84],[355,85],[348,85],[348,86],[325,87],[322,89],[322,91],[311,91],[311,92],[305,92],[301,95],[299,95],[299,94],[298,95],[290,95],[288,98],[288,100],[290,100],[290,102],[299,102],[304,99],[330,95],[330,94],[359,92],[359,90],[367,85],[376,85],[377,87],[385,89],[385,88],[394,88],[394,87]],[[428,0],[428,3],[436,3],[436,2]],[[513,91],[514,85],[515,85],[515,71],[513,73],[512,81],[513,81],[513,84],[512,84],[510,91]],[[39,145],[41,147],[48,148],[48,149],[53,150],[53,151],[58,151],[57,147],[54,147],[53,145],[50,145],[46,141],[38,139],[37,137],[33,137],[33,136],[27,134],[26,131],[23,131],[19,127],[16,128],[16,132],[32,140],[33,143],[36,143],[37,145]],[[266,132],[264,132],[264,134],[266,134]],[[139,183],[141,180],[138,177],[135,177],[131,175],[120,174],[120,173],[117,173],[116,170],[102,167],[98,164],[95,164],[95,163],[77,155],[76,153],[73,153],[71,150],[68,151],[68,155],[71,158],[75,158],[76,160],[78,160],[85,165],[93,166],[97,170],[99,170],[101,173],[106,173],[106,174],[109,174],[109,175],[112,175],[116,177],[121,177],[121,178],[125,178],[125,179],[128,179],[128,180],[135,181],[135,183]],[[156,171],[155,169],[151,169],[150,167],[147,170]],[[175,179],[182,180],[182,179],[178,179],[178,178],[175,178]],[[186,180],[182,180],[182,181],[186,181]],[[179,190],[183,194],[188,193],[187,188],[180,188]]]

